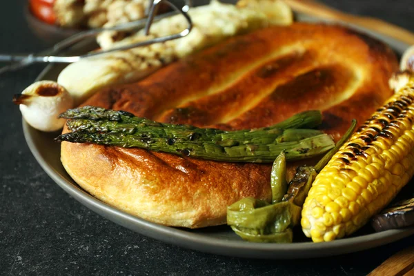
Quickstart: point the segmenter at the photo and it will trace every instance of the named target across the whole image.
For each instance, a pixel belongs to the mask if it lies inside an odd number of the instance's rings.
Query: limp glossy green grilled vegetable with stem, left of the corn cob
[[[227,224],[248,242],[289,243],[293,241],[293,226],[299,224],[302,204],[317,172],[335,155],[355,130],[356,121],[317,164],[299,166],[293,179],[286,183],[286,158],[282,152],[273,163],[270,173],[272,204],[247,197],[227,208]]]

